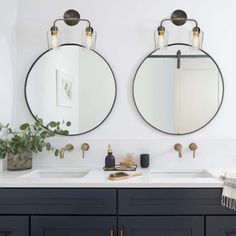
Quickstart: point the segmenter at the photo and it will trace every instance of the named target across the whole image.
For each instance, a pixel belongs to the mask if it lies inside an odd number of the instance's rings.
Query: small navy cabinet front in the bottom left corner
[[[29,236],[29,216],[0,216],[0,236]]]

